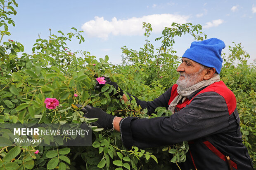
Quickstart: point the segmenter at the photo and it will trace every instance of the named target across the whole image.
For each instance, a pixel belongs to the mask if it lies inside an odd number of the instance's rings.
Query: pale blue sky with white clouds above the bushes
[[[256,59],[256,0],[16,0],[19,4],[13,17],[15,27],[10,26],[7,39],[21,42],[30,53],[38,34],[48,39],[52,34],[71,32],[72,27],[83,30],[85,42],[68,44],[71,51],[89,51],[97,58],[109,56],[111,63],[121,63],[121,47],[139,50],[145,42],[142,22],[152,24],[149,40],[155,42],[164,27],[190,22],[203,26],[207,38],[217,37],[228,46],[242,43],[244,50]],[[175,38],[173,48],[182,56],[192,36]]]

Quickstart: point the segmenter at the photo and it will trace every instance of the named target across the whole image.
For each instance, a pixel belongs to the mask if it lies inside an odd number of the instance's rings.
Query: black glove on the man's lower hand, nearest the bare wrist
[[[82,105],[76,105],[78,108],[83,107]],[[115,116],[107,114],[102,109],[97,107],[91,107],[87,105],[81,109],[85,114],[83,115],[86,118],[98,118],[96,122],[93,122],[92,125],[98,126],[98,128],[112,129],[113,120]]]

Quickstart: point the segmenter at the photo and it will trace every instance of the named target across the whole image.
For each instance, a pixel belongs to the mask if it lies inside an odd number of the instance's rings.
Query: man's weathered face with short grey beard
[[[177,68],[177,72],[180,73],[180,77],[177,80],[180,88],[188,88],[197,84],[203,80],[204,72],[201,65],[188,58],[182,58],[182,63]]]

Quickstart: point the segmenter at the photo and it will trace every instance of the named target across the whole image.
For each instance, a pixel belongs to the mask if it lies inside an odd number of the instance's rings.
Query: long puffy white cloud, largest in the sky
[[[142,22],[150,23],[154,33],[161,33],[164,27],[170,27],[171,23],[186,23],[188,18],[189,16],[174,14],[153,14],[124,20],[114,17],[107,21],[103,17],[95,16],[94,20],[84,23],[82,29],[91,37],[107,39],[110,34],[143,35]]]

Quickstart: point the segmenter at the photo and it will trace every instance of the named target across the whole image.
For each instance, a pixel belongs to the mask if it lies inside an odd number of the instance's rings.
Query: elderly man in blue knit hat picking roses
[[[253,170],[247,148],[242,144],[235,95],[219,77],[223,48],[224,42],[217,38],[192,42],[177,68],[177,84],[151,102],[136,98],[137,104],[147,108],[149,114],[161,106],[173,112],[170,117],[121,118],[100,108],[87,106],[82,110],[88,118],[99,118],[100,126],[121,132],[128,149],[188,141],[187,159],[179,163],[182,170]],[[108,83],[120,89],[116,83]],[[127,101],[122,90],[119,94]],[[178,167],[173,164],[172,169]]]

